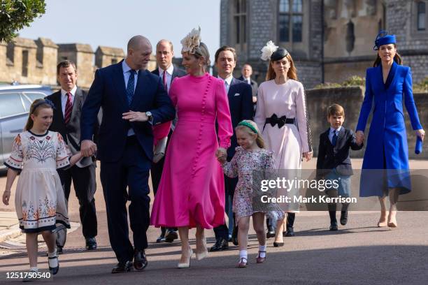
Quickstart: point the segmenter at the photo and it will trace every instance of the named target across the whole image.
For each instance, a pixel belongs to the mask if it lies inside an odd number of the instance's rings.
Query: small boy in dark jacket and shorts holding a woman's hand
[[[329,189],[327,195],[350,197],[350,176],[353,174],[349,150],[362,149],[363,144],[357,144],[355,134],[350,129],[345,129],[345,110],[338,104],[329,106],[327,121],[330,127],[320,135],[320,147],[318,147],[317,177],[324,180],[336,180],[337,189]],[[348,205],[342,203],[341,224],[348,222]],[[329,203],[330,231],[337,231],[336,203]]]

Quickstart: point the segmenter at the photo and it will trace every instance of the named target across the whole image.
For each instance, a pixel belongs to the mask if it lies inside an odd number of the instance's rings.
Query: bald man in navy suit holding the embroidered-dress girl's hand
[[[101,161],[108,235],[119,261],[112,273],[129,271],[133,259],[136,270],[147,265],[152,126],[176,115],[161,78],[145,70],[150,54],[147,38],[132,37],[126,59],[97,70],[82,110],[80,150],[84,156],[97,152]],[[95,145],[91,139],[99,108],[103,119]],[[134,247],[128,238],[127,200]]]

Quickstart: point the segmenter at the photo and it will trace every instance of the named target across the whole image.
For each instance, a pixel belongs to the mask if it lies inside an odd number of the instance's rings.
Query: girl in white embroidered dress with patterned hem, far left
[[[27,125],[13,142],[3,203],[9,205],[10,189],[18,173],[15,210],[20,228],[26,234],[30,272],[37,272],[37,235],[48,246],[48,263],[52,274],[59,269],[55,234],[56,224],[70,228],[64,191],[57,169],[73,166],[82,158],[80,152],[69,157],[59,133],[49,131],[53,117],[52,102],[37,99],[31,104]],[[36,275],[31,275],[36,276]]]

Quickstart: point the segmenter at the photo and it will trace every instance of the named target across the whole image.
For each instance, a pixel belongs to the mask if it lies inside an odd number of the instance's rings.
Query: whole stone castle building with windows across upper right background
[[[411,66],[413,81],[428,76],[428,0],[222,0],[220,45],[238,52],[261,82],[259,59],[267,41],[285,47],[307,88],[321,82],[364,77],[373,66],[380,29],[397,35],[397,50]]]

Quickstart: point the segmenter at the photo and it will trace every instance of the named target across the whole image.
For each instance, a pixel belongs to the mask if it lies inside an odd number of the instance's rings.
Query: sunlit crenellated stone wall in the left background
[[[69,59],[78,68],[78,85],[89,88],[97,68],[115,64],[125,57],[117,47],[100,46],[96,52],[82,43],[53,43],[48,38],[36,41],[15,38],[11,43],[0,42],[0,83],[57,85],[57,64]],[[148,69],[156,67],[155,56],[150,57]]]

